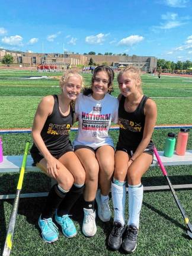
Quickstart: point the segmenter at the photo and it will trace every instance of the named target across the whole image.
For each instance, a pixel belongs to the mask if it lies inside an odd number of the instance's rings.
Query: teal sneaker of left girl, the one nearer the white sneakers
[[[63,215],[62,217],[57,215],[55,212],[55,220],[62,227],[63,235],[67,238],[71,238],[76,235],[76,228],[69,215]]]

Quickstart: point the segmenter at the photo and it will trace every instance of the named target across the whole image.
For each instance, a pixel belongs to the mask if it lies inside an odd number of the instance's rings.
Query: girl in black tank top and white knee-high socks
[[[125,252],[135,251],[139,231],[139,215],[143,200],[141,178],[153,161],[151,140],[156,122],[156,104],[143,95],[139,70],[125,68],[117,77],[119,95],[119,141],[115,154],[115,169],[111,194],[114,207],[113,229],[108,245]],[[129,219],[126,227],[126,181],[129,194]],[[122,235],[125,232],[122,241]]]

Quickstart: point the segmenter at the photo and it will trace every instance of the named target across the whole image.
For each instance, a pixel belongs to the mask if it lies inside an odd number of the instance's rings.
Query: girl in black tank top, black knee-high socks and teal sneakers
[[[69,132],[75,121],[72,103],[82,86],[82,76],[69,71],[60,79],[61,94],[44,97],[34,117],[34,144],[30,151],[34,165],[57,182],[49,191],[39,217],[42,238],[48,243],[58,239],[54,214],[63,235],[68,238],[76,235],[75,225],[68,214],[84,189],[85,171],[73,152]]]

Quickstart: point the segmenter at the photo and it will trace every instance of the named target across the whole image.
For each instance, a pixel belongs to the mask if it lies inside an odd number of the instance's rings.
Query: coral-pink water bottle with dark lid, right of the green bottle
[[[177,136],[176,154],[185,155],[187,148],[188,132],[190,129],[181,128]]]

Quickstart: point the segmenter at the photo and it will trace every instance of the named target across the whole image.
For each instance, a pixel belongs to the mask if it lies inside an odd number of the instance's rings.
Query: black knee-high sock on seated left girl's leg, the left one
[[[48,219],[53,217],[55,209],[59,207],[59,204],[64,199],[68,191],[62,191],[58,184],[53,185],[49,195],[47,196],[46,206],[41,213],[41,219]]]

